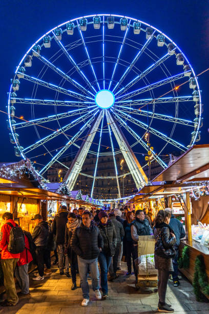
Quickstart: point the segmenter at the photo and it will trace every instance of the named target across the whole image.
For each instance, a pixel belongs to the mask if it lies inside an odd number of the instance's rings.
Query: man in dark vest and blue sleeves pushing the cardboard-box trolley
[[[131,237],[133,240],[134,257],[133,260],[138,258],[138,240],[140,235],[153,234],[153,230],[150,227],[149,221],[145,219],[143,210],[136,210],[135,221],[131,225]],[[136,281],[138,278],[137,267],[135,271]]]

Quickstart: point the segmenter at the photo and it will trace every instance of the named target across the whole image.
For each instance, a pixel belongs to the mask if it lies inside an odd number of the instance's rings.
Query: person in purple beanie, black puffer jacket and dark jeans
[[[103,299],[106,299],[108,297],[108,269],[110,267],[111,259],[115,255],[117,234],[113,223],[108,220],[108,214],[105,210],[101,210],[98,213],[98,217],[100,220],[98,228],[104,243],[98,256],[98,262],[101,271],[101,289],[103,292]]]

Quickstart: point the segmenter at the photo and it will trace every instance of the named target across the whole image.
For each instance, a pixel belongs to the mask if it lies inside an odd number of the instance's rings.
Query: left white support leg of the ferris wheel
[[[70,168],[68,169],[68,171],[65,175],[65,181],[67,182],[67,185],[68,185],[68,188],[70,191],[72,191],[72,189],[75,185],[75,182],[78,178],[78,174],[81,171],[83,162],[85,161],[86,156],[88,154],[88,151],[89,151],[91,144],[94,140],[94,136],[95,136],[96,131],[99,127],[101,119],[102,119],[102,112],[100,112],[100,114],[96,118],[94,124],[92,125],[92,127],[88,131],[88,134],[86,135],[85,139],[83,140],[83,142],[80,146],[80,149],[78,150],[78,152],[75,156],[75,159],[73,160]]]

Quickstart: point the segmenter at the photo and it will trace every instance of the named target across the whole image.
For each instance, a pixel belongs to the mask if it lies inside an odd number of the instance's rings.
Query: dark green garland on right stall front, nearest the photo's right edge
[[[204,295],[209,296],[209,284],[207,279],[207,274],[205,271],[205,263],[202,255],[198,255],[195,259],[195,273],[193,279],[193,287],[194,293],[196,296],[196,300],[199,302],[203,302]]]

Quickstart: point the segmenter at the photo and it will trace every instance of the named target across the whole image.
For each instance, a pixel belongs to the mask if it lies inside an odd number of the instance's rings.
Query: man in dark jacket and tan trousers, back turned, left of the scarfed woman
[[[65,251],[65,229],[68,222],[68,211],[65,205],[62,205],[58,214],[55,216],[52,223],[52,233],[56,236],[57,254],[58,254],[58,268],[60,275],[64,274],[64,268],[66,276],[69,277],[69,261]],[[64,265],[65,258],[65,265]]]

